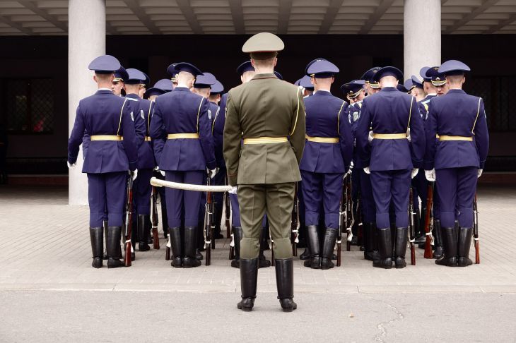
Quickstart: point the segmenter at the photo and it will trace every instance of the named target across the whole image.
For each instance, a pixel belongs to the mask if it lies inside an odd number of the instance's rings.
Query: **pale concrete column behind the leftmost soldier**
[[[68,8],[68,131],[74,127],[76,109],[83,97],[97,89],[88,64],[106,50],[105,0],[70,0]],[[88,205],[88,182],[82,174],[83,153],[69,169],[69,204]]]

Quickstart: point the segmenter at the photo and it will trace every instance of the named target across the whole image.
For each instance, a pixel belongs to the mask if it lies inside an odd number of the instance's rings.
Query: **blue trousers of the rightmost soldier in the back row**
[[[473,227],[473,200],[476,192],[477,167],[447,168],[435,171],[442,227]]]

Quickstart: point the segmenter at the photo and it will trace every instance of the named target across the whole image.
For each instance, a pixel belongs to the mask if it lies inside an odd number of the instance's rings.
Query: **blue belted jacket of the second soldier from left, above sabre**
[[[208,109],[208,100],[184,87],[176,87],[156,98],[151,138],[161,170],[189,171],[216,167]],[[199,133],[199,139],[167,139],[170,133]]]

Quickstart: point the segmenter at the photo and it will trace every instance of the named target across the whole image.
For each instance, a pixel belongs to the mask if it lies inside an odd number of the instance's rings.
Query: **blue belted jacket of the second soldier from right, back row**
[[[423,119],[414,97],[399,92],[394,87],[365,97],[356,130],[356,147],[364,167],[370,171],[387,171],[419,168],[425,154]],[[410,126],[411,140],[373,139],[368,142],[370,128],[373,133],[406,133]]]

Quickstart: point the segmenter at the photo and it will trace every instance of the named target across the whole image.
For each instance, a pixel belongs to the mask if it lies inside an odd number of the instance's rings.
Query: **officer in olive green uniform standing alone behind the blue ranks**
[[[229,91],[224,127],[224,159],[231,186],[238,185],[243,238],[240,243],[242,301],[251,311],[257,292],[259,235],[266,211],[274,241],[278,299],[293,311],[291,214],[299,162],[305,146],[303,94],[274,75],[283,42],[271,33],[252,36],[242,47],[256,75]],[[241,140],[243,138],[243,145]]]

